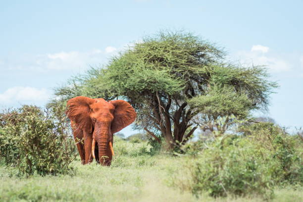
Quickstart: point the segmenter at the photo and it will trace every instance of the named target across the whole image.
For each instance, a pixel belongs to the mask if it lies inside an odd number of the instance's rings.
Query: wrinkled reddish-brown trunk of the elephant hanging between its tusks
[[[98,124],[96,133],[96,141],[99,150],[99,162],[101,165],[109,165],[111,161],[111,153],[108,152],[108,144],[110,137],[110,124]]]

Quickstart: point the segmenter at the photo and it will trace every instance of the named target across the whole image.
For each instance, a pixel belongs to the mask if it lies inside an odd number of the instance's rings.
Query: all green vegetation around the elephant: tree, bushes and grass
[[[162,32],[56,88],[45,108],[1,111],[0,201],[303,201],[302,132],[252,116],[277,84],[224,56]],[[111,166],[81,165],[65,116],[75,96],[135,107],[142,132],[115,134]]]

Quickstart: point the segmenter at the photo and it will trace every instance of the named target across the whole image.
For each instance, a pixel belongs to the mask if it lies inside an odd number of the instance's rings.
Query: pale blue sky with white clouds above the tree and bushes
[[[257,115],[301,127],[302,8],[302,0],[0,1],[0,107],[44,106],[53,88],[143,36],[185,30],[232,61],[266,65],[280,87]]]

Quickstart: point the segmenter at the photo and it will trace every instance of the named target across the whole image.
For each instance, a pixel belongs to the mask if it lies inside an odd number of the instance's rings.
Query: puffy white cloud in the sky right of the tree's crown
[[[251,51],[243,50],[236,53],[242,64],[265,65],[270,72],[286,72],[292,69],[288,60],[281,56],[268,54],[269,48],[260,45],[253,46]]]

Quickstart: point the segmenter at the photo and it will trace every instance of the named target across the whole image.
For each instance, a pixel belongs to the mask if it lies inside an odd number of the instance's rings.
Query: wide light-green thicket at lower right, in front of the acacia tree
[[[303,185],[302,148],[300,138],[274,123],[242,125],[238,134],[184,146],[182,155],[193,157],[185,165],[190,180],[175,177],[174,183],[196,196],[271,198],[274,186]]]

